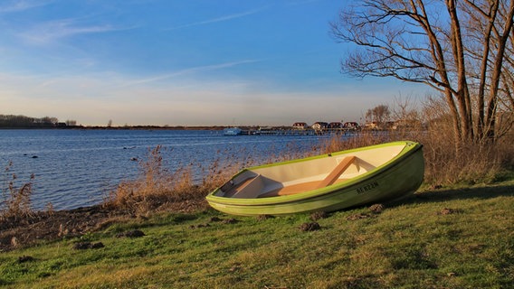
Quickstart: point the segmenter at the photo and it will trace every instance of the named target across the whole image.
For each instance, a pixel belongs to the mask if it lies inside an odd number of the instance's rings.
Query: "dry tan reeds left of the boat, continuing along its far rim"
[[[268,158],[255,160],[252,154],[245,152],[220,151],[214,162],[206,164],[188,164],[170,172],[163,161],[165,147],[157,145],[148,150],[147,160],[139,163],[140,173],[137,179],[120,182],[103,202],[104,208],[126,211],[136,216],[146,216],[156,211],[191,212],[208,207],[205,196],[223,185],[233,174],[245,167],[290,160],[306,156],[291,144],[286,154],[270,154]],[[271,151],[273,151],[271,149]],[[315,150],[313,149],[313,152]],[[203,176],[198,183],[193,180],[193,170]]]

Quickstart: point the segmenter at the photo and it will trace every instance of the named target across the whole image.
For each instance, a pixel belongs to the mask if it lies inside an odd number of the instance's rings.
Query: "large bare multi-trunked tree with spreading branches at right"
[[[458,151],[498,136],[500,103],[511,100],[513,15],[514,0],[361,0],[331,28],[336,40],[355,44],[343,71],[440,91]]]

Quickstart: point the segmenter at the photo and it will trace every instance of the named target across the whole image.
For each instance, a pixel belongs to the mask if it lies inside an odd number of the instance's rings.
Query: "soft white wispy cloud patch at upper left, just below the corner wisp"
[[[32,29],[21,34],[27,42],[48,44],[55,40],[86,33],[108,33],[126,30],[112,27],[109,24],[81,25],[74,19],[62,19],[46,23],[38,23]]]

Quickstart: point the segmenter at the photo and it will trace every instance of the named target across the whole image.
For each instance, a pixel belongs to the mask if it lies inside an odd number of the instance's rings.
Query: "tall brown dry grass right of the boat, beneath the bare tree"
[[[429,184],[474,184],[499,181],[514,163],[514,131],[503,135],[494,144],[489,141],[454,143],[453,127],[448,108],[438,98],[428,98],[420,113],[427,128],[414,135],[424,144],[425,182]],[[507,132],[507,127],[498,131]]]

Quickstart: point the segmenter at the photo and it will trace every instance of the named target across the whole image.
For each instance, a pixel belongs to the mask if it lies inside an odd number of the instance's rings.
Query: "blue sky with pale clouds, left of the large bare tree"
[[[426,89],[340,73],[336,0],[3,0],[0,114],[84,126],[360,121]]]

